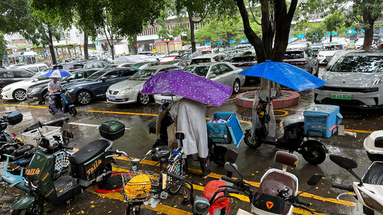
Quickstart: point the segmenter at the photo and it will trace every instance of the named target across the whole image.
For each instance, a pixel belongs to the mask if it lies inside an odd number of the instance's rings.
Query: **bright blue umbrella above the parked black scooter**
[[[270,60],[252,65],[238,73],[238,75],[265,78],[297,91],[318,88],[327,84],[296,66]]]

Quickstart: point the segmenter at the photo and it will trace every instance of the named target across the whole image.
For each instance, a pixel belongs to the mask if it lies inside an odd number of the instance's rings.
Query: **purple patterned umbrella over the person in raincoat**
[[[152,76],[141,87],[142,94],[175,94],[220,106],[229,99],[233,88],[184,70],[171,70]]]

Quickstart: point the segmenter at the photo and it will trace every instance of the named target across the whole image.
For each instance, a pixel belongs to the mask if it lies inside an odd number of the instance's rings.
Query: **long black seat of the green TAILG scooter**
[[[108,148],[109,142],[105,139],[98,139],[89,142],[86,146],[81,148],[78,152],[71,155],[69,158],[70,164],[79,166],[84,164],[86,161],[92,159],[95,155],[98,155]]]

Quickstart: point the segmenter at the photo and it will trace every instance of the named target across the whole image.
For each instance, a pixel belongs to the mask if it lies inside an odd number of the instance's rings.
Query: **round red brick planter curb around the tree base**
[[[257,90],[256,90],[257,91]],[[249,92],[243,92],[240,94],[237,94],[235,96],[235,101],[237,103],[237,106],[246,107],[246,108],[252,108],[253,107],[253,101],[254,99],[248,99],[243,97],[243,95],[256,92],[256,91],[249,91]],[[294,91],[288,91],[288,90],[281,90],[281,92],[287,92],[290,93],[290,97],[282,98],[282,99],[274,99],[273,100],[273,108],[286,108],[286,107],[292,107],[294,105],[297,105],[299,103],[299,93]]]

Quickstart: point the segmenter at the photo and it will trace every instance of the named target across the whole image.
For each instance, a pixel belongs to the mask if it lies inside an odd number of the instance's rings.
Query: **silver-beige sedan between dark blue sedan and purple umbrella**
[[[129,80],[111,85],[106,91],[106,99],[108,102],[115,104],[137,102],[141,106],[148,105],[151,96],[139,93],[141,86],[155,74],[173,69],[181,69],[181,67],[175,65],[159,65],[141,69]]]

